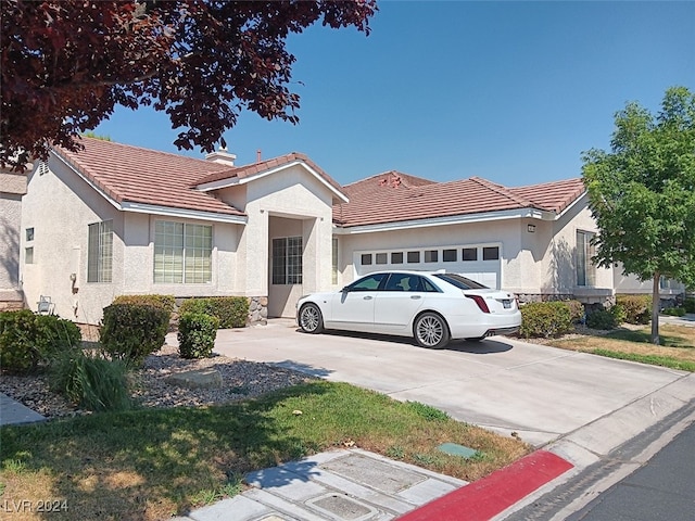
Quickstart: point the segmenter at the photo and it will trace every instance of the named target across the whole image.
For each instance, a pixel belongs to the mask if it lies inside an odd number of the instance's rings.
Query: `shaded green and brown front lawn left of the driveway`
[[[358,446],[473,481],[530,447],[344,383],[317,381],[220,407],[101,412],[2,428],[2,499],[61,499],[52,520],[165,519],[242,490],[244,473]],[[465,460],[445,442],[484,454]],[[17,518],[18,519],[18,518]]]

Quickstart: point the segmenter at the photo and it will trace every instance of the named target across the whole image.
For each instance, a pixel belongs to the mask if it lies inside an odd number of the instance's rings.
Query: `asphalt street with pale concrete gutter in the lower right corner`
[[[695,401],[517,508],[505,521],[690,521]]]

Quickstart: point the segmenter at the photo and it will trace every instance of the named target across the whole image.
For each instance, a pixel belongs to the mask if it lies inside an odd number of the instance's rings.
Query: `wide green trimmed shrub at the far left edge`
[[[81,333],[71,320],[28,309],[0,313],[0,367],[25,373],[64,351],[79,346]]]

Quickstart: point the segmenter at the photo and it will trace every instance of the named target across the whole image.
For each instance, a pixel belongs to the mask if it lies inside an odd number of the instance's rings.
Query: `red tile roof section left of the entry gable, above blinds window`
[[[93,138],[81,138],[80,142],[84,150],[54,151],[117,203],[244,215],[213,195],[190,188],[201,176],[228,171],[229,165]]]

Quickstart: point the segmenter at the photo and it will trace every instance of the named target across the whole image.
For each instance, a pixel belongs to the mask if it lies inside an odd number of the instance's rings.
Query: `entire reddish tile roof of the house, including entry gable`
[[[333,204],[333,221],[342,227],[430,219],[507,209],[536,208],[560,213],[582,193],[581,179],[506,188],[479,177],[435,182],[395,170],[341,187],[306,155],[290,154],[244,166],[83,138],[85,149],[54,151],[117,203],[139,203],[173,208],[244,216],[210,192],[197,190],[225,179],[256,174],[303,162],[348,203]]]

